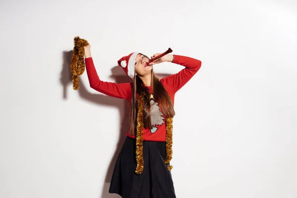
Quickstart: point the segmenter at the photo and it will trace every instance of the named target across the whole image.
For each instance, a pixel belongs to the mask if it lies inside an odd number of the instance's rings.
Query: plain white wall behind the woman
[[[202,61],[175,98],[178,198],[296,198],[296,24],[296,0],[1,0],[0,197],[119,198],[127,102],[86,73],[72,89],[80,36],[104,81],[129,82],[116,64],[133,51]]]

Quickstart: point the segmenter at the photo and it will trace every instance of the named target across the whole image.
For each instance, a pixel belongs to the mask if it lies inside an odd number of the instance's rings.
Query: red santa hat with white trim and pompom
[[[132,79],[134,79],[135,75],[135,58],[137,54],[139,54],[139,52],[136,51],[118,60],[118,65],[122,67],[126,74]]]

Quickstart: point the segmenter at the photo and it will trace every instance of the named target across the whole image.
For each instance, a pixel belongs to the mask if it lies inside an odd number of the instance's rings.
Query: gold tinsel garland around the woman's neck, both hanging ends
[[[144,157],[143,157],[143,111],[145,106],[145,96],[140,95],[138,98],[138,112],[137,112],[137,131],[136,131],[136,171],[135,173],[141,174],[144,169]],[[173,136],[173,125],[172,117],[166,118],[166,158],[164,160],[167,165],[167,169],[170,171],[172,165],[169,165],[170,160],[172,159],[172,136]]]

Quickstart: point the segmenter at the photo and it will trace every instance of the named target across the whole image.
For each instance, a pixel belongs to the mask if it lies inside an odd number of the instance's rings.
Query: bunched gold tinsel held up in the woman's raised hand
[[[79,89],[78,76],[82,75],[85,71],[84,47],[87,45],[89,45],[89,43],[85,39],[74,37],[74,48],[73,48],[72,59],[70,64],[74,90]]]

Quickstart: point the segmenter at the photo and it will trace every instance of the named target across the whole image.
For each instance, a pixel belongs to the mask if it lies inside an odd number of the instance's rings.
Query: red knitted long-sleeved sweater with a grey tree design
[[[112,82],[104,82],[99,79],[92,57],[86,58],[86,70],[91,88],[103,93],[107,96],[131,100],[132,89],[131,83],[116,84]],[[185,68],[180,72],[160,79],[160,82],[168,92],[174,104],[174,95],[181,89],[200,69],[201,61],[187,56],[174,55],[173,63],[180,64]],[[151,93],[151,125],[152,129],[144,128],[143,138],[147,141],[166,142],[166,117],[162,113],[157,101],[153,99],[151,87],[148,87]],[[127,136],[136,138],[134,136]]]

